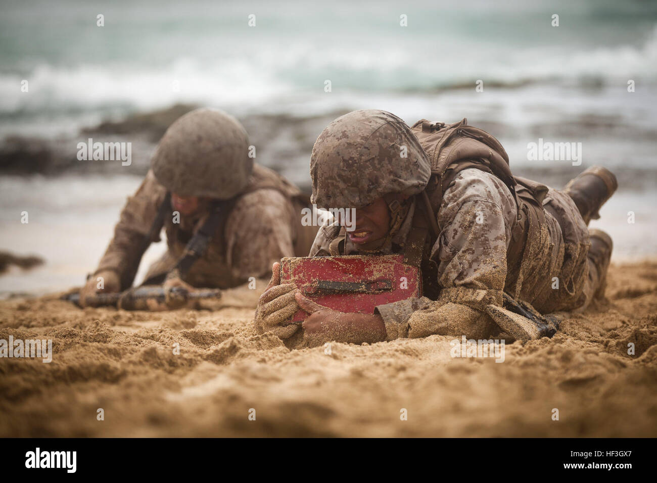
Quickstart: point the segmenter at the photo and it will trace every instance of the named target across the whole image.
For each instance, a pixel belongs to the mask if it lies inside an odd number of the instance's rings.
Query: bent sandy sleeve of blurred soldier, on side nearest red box
[[[267,277],[271,265],[294,256],[290,201],[273,189],[261,189],[242,196],[226,221],[226,260],[233,276]]]

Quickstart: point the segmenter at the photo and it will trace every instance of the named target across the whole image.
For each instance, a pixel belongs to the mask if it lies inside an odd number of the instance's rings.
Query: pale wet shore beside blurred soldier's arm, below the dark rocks
[[[28,271],[10,267],[0,277],[0,297],[11,293],[44,294],[84,285],[87,273],[95,271],[114,234],[125,196],[134,193],[139,183],[141,178],[135,176],[0,177],[1,249],[37,254],[45,262]],[[27,212],[28,223],[21,222],[22,212]],[[164,241],[148,248],[137,282],[164,250]]]

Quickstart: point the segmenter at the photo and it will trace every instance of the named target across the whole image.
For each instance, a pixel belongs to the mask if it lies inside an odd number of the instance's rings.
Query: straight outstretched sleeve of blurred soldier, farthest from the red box
[[[143,252],[143,238],[148,235],[155,221],[160,204],[166,196],[166,188],[149,171],[133,196],[129,196],[114,227],[114,237],[101,258],[95,273],[112,270],[118,273],[122,289],[130,287]],[[159,240],[159,233],[152,241]]]

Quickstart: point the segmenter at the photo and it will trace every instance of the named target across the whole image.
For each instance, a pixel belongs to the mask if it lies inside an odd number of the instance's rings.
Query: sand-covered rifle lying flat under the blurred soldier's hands
[[[220,297],[221,290],[218,288],[205,288],[190,292],[183,287],[168,289],[162,287],[135,287],[124,292],[98,293],[87,297],[85,303],[91,307],[114,306],[123,310],[150,310],[152,302],[155,302],[156,304],[164,303],[167,308],[176,309],[184,306],[188,300],[217,299]],[[64,294],[60,297],[60,300],[67,300],[81,307],[78,292]]]

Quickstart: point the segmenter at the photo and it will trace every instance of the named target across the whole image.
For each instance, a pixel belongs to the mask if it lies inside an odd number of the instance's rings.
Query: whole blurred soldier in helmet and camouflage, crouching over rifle
[[[250,149],[244,127],[221,110],[199,108],[173,122],[158,143],[146,179],[128,198],[96,274],[113,271],[120,290],[129,288],[145,238],[150,234],[147,242],[160,240],[151,229],[157,229],[156,220],[164,222],[168,250],[148,270],[148,284],[162,283],[169,274],[171,281],[182,278],[193,287],[235,287],[249,277],[266,276],[283,256],[306,253],[316,233],[300,223],[307,197],[277,173],[254,164]],[[166,206],[168,193],[200,198],[198,209],[174,219]],[[204,254],[189,271],[185,266],[187,273],[171,271],[208,219],[214,234]]]

